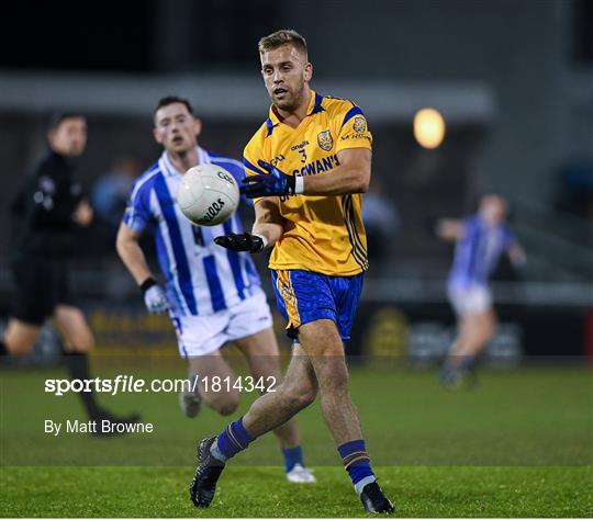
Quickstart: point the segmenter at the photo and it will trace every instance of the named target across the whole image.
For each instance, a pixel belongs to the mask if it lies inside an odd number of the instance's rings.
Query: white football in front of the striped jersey
[[[200,226],[215,226],[237,208],[239,189],[235,178],[216,165],[190,168],[177,193],[181,213]]]

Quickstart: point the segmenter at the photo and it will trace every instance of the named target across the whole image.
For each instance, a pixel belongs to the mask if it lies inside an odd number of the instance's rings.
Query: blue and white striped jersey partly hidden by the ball
[[[237,181],[245,177],[240,162],[202,148],[198,152],[201,165],[221,166]],[[148,226],[154,228],[174,315],[209,315],[254,294],[260,280],[249,253],[231,251],[213,241],[221,235],[243,233],[237,212],[217,226],[193,225],[176,201],[181,178],[164,151],[135,182],[123,222],[138,233]]]

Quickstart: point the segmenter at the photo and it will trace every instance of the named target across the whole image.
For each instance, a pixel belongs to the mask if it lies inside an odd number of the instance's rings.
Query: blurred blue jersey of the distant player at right
[[[466,218],[463,235],[455,248],[449,285],[486,286],[499,258],[513,241],[513,233],[506,224],[489,226],[479,215]]]

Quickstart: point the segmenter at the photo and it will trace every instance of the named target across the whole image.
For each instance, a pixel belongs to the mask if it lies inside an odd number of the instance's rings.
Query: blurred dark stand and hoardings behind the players
[[[355,348],[443,352],[454,323],[445,296],[452,249],[424,223],[467,215],[480,194],[495,191],[512,204],[528,262],[521,272],[502,262],[495,273],[503,326],[492,351],[510,359],[593,353],[593,2],[10,2],[2,21],[3,314],[8,207],[45,149],[52,112],[89,116],[80,166],[89,193],[109,172],[134,177],[158,157],[150,115],[169,93],[193,102],[204,122],[202,146],[240,158],[268,110],[257,41],[293,27],[309,43],[312,87],[356,101],[374,136],[366,215],[371,269]],[[446,124],[433,149],[413,132],[424,108]],[[91,319],[114,305],[142,312],[108,221],[80,233],[72,268]],[[373,347],[377,323],[398,341]]]

